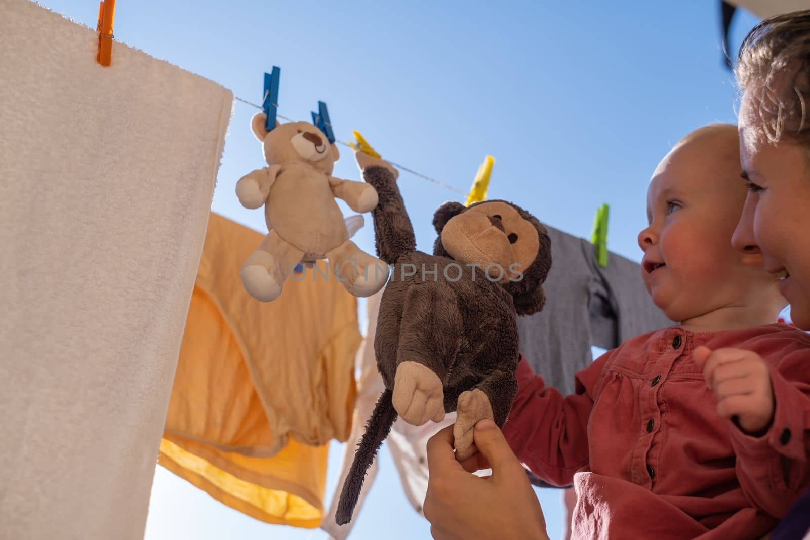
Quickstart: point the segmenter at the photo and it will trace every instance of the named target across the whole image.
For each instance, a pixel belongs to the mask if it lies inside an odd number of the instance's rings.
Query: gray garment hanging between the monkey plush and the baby
[[[543,311],[518,317],[520,349],[546,385],[568,395],[573,376],[593,361],[592,345],[613,349],[673,323],[647,294],[637,262],[609,253],[603,268],[589,241],[546,228],[552,240],[552,268],[543,286],[547,300]],[[535,485],[550,487],[529,476]]]

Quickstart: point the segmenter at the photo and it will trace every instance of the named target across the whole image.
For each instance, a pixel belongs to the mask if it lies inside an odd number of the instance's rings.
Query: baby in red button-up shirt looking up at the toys
[[[567,397],[521,359],[504,436],[573,483],[573,538],[761,538],[808,487],[810,336],[774,324],[777,278],[731,246],[745,197],[736,127],[689,134],[638,235],[647,290],[680,325],[608,351]]]

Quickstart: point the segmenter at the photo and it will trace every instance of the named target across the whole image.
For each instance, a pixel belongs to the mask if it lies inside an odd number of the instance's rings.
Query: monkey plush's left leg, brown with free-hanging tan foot
[[[444,381],[460,347],[456,301],[444,282],[411,285],[405,294],[392,401],[407,423],[444,419]]]

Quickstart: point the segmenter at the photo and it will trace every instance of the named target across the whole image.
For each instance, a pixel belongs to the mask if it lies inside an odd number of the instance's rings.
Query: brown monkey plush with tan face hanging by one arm
[[[545,227],[505,201],[445,202],[433,216],[433,255],[416,250],[396,170],[361,152],[356,159],[377,190],[377,256],[392,271],[374,339],[386,390],[343,483],[339,525],[351,521],[365,471],[397,415],[421,425],[455,411],[459,460],[475,453],[472,428],[480,419],[503,426],[518,393],[516,315],[543,308],[551,267]]]

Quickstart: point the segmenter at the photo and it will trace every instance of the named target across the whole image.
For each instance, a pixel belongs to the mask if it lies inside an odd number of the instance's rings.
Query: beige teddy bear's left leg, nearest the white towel
[[[301,249],[289,244],[271,230],[262,244],[245,261],[241,277],[250,296],[262,302],[271,302],[281,296],[284,280],[304,257]]]

